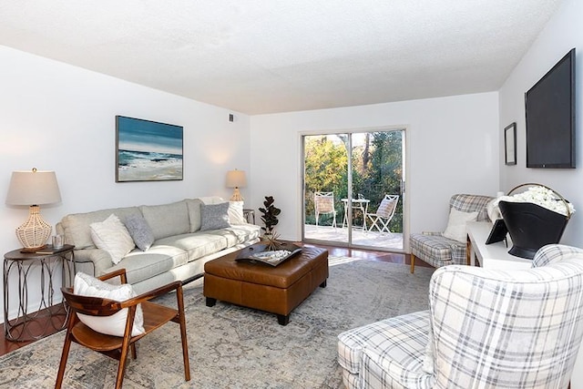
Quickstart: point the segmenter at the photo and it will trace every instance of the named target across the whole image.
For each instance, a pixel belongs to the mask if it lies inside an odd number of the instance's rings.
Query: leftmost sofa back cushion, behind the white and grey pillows
[[[138,207],[112,208],[66,215],[60,222],[63,233],[65,234],[66,243],[73,244],[75,250],[95,248],[96,246],[91,238],[89,224],[106,220],[112,213],[117,215],[119,220],[122,221],[129,215],[141,215]]]

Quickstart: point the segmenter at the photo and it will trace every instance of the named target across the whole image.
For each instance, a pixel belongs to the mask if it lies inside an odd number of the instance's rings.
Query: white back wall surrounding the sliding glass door
[[[251,117],[251,204],[272,195],[282,237],[302,235],[301,134],[407,128],[410,230],[443,230],[454,193],[496,195],[497,93]]]

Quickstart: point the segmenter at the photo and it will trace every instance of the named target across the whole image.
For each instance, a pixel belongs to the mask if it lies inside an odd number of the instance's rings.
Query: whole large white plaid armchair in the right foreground
[[[429,310],[338,336],[349,388],[567,388],[583,336],[583,250],[532,269],[437,269]]]

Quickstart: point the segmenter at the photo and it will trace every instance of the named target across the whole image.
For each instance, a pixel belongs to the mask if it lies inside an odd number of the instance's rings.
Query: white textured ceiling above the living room
[[[0,45],[247,114],[497,90],[561,0],[0,0]]]

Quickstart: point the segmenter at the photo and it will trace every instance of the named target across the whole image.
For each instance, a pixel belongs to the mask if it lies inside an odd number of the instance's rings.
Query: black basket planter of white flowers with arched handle
[[[517,189],[526,191],[511,195]],[[546,244],[558,243],[567,227],[573,205],[557,191],[540,184],[522,184],[498,198],[497,205],[512,238],[517,257],[532,259]]]

